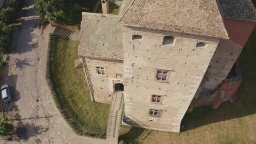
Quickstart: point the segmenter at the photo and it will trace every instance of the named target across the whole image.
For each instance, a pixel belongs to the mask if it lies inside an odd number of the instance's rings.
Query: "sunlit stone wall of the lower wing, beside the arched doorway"
[[[123,83],[116,74],[123,76],[123,61],[83,57],[93,90],[93,100],[110,104],[115,83]],[[105,75],[98,75],[96,67],[105,67]]]

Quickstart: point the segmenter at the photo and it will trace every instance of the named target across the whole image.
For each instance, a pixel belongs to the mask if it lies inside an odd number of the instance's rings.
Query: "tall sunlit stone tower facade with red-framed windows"
[[[132,35],[141,35],[142,40],[132,40]],[[176,37],[174,46],[162,45],[166,35]],[[198,42],[208,43],[207,48],[196,48]],[[123,27],[128,122],[138,120],[148,128],[179,132],[218,44],[216,38]],[[155,81],[156,69],[171,71],[168,83]],[[152,94],[164,96],[162,104],[152,104]],[[161,109],[161,117],[149,116],[149,109]]]

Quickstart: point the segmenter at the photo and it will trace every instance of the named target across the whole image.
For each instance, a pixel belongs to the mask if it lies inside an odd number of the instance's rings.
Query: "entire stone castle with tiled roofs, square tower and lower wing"
[[[236,61],[256,24],[251,0],[124,0],[118,16],[82,15],[91,100],[123,93],[123,123],[179,132],[193,107],[237,98]]]

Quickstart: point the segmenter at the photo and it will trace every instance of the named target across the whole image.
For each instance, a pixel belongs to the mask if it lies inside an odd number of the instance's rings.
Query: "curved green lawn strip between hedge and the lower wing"
[[[79,41],[56,38],[54,77],[67,109],[87,130],[106,133],[109,105],[91,101],[83,69],[75,69]]]

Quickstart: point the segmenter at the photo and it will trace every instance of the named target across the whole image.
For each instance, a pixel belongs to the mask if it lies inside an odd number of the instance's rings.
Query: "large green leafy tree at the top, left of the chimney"
[[[70,24],[74,20],[77,5],[73,0],[36,0],[34,6],[41,19],[61,24]]]

